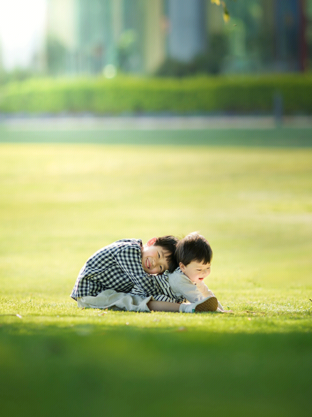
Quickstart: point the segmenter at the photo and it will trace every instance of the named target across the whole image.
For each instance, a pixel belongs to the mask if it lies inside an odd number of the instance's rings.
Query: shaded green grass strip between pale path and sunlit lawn
[[[184,146],[311,147],[311,128],[193,129],[193,130],[45,130],[15,131],[0,126],[0,142],[104,143]]]

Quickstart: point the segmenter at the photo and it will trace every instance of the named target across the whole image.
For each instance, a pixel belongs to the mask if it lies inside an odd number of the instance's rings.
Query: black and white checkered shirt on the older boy
[[[97,251],[82,267],[70,296],[77,300],[111,288],[117,292],[141,297],[151,295],[155,300],[176,302],[166,280],[158,276],[157,282],[144,271],[141,248],[140,239],[122,239]]]

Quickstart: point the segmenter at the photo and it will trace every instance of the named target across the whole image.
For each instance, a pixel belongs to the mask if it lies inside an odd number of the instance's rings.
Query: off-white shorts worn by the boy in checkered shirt
[[[92,309],[150,311],[146,304],[151,299],[153,299],[152,296],[143,298],[138,295],[106,289],[97,294],[97,296],[78,297],[77,304],[78,307],[89,307]]]

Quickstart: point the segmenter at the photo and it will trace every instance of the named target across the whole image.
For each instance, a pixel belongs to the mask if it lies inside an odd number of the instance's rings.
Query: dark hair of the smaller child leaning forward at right
[[[207,239],[194,232],[178,241],[175,258],[178,264],[182,262],[184,266],[192,261],[210,264],[212,261],[212,249]]]

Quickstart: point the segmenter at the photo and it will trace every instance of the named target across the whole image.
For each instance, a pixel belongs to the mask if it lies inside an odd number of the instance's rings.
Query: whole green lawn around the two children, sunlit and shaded
[[[310,416],[311,130],[0,136],[3,415]],[[69,298],[102,246],[196,230],[233,314]]]

